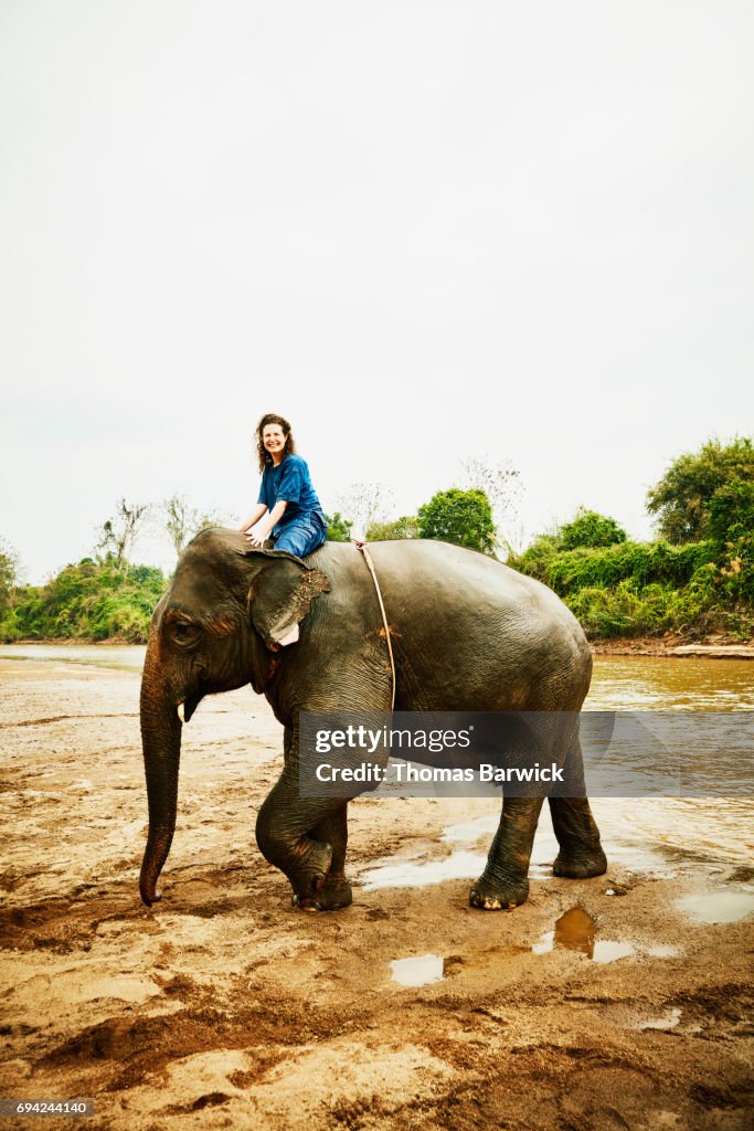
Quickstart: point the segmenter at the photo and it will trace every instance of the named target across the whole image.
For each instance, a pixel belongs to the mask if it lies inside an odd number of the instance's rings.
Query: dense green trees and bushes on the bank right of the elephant
[[[592,639],[754,636],[754,448],[717,441],[676,459],[648,495],[659,542],[583,511],[509,564],[563,598]]]

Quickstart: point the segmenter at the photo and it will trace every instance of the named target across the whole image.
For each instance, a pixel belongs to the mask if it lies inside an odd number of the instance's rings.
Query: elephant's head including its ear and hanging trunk
[[[280,641],[329,588],[293,554],[251,550],[232,530],[202,530],[182,554],[151,620],[141,680],[149,836],[139,886],[148,907],[175,830],[182,720],[206,694],[245,683],[265,691],[285,662]]]

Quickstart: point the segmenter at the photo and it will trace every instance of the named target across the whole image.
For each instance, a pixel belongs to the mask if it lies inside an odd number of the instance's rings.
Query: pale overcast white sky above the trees
[[[486,457],[519,542],[581,504],[650,537],[670,460],[754,430],[753,37],[748,0],[3,0],[26,579],[121,497],[245,513],[265,412],[326,510]]]

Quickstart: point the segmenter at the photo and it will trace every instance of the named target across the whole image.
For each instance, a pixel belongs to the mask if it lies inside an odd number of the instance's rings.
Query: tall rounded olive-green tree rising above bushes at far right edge
[[[675,544],[709,537],[712,498],[734,481],[754,483],[749,437],[736,437],[725,446],[708,440],[699,451],[678,456],[647,494],[647,510],[657,516],[660,537]]]

